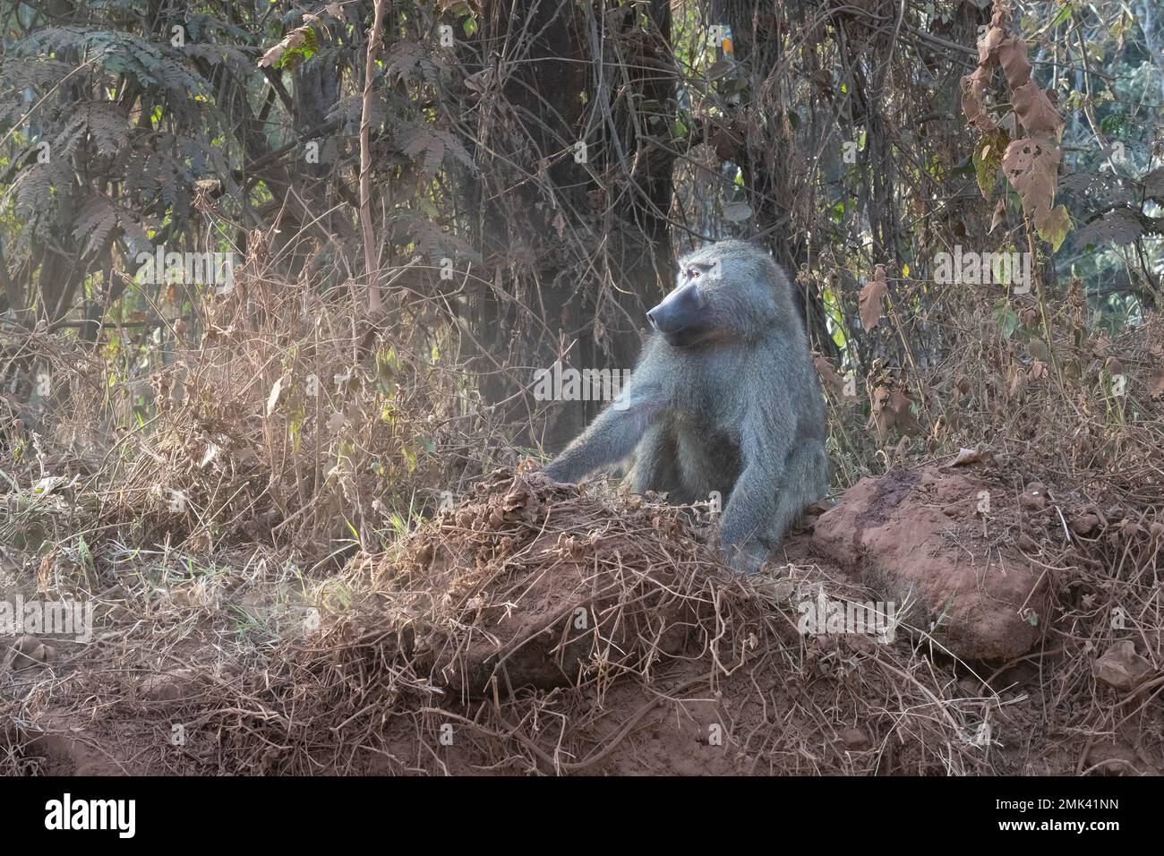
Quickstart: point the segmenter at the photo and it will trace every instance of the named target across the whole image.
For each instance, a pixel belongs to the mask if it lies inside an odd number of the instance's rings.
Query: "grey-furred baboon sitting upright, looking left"
[[[679,261],[675,290],[622,395],[547,468],[574,482],[634,453],[636,493],[707,502],[737,571],[754,573],[828,489],[824,404],[792,285],[764,250],[721,241]]]

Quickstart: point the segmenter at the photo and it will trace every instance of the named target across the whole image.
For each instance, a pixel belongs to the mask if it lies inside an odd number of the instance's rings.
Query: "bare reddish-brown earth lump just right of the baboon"
[[[996,523],[1020,504],[961,472],[896,469],[846,490],[817,521],[814,546],[956,657],[1012,659],[1050,613],[1043,568]]]

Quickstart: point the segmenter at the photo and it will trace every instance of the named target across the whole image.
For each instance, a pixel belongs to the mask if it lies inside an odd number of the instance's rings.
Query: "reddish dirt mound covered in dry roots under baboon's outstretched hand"
[[[409,616],[416,665],[435,681],[470,695],[495,681],[551,689],[682,648],[700,604],[680,593],[718,571],[694,536],[659,502],[503,472],[374,578],[395,589],[392,614]]]

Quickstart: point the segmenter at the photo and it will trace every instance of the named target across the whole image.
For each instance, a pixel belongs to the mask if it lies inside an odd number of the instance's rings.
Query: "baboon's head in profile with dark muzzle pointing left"
[[[781,284],[787,291],[767,253],[721,241],[679,260],[675,290],[647,320],[676,347],[748,339],[779,321]]]

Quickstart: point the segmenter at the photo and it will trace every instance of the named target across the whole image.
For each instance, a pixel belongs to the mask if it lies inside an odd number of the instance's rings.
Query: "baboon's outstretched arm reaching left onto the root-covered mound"
[[[546,475],[555,481],[574,482],[598,467],[615,464],[634,451],[647,426],[662,412],[662,396],[656,389],[626,390],[625,403],[616,399],[566,447]]]

